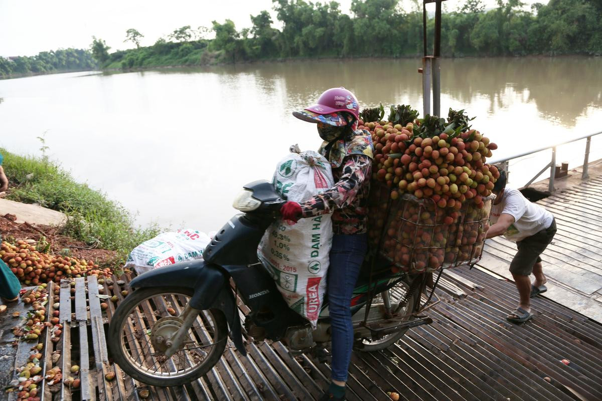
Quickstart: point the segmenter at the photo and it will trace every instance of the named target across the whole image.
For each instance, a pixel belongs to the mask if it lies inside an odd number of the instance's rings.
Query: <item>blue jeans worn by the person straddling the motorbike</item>
[[[332,332],[332,380],[347,381],[353,347],[351,297],[367,249],[367,234],[335,234],[332,237],[327,280]]]

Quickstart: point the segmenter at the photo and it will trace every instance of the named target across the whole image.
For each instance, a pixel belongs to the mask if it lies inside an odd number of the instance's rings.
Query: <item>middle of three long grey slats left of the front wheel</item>
[[[81,380],[82,401],[96,399],[96,385],[90,378],[90,359],[88,358],[88,311],[85,302],[85,278],[75,279],[75,319],[79,331],[79,379]]]

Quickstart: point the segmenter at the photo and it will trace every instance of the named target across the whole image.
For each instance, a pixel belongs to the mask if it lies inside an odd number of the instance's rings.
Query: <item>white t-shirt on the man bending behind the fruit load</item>
[[[494,200],[495,202],[495,200]],[[504,189],[504,196],[499,204],[491,207],[491,224],[495,224],[501,213],[514,217],[514,223],[504,233],[507,239],[518,242],[550,227],[554,216],[552,213],[532,203],[518,189]]]

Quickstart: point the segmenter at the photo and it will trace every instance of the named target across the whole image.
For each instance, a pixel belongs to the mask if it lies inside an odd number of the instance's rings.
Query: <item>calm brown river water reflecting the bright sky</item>
[[[0,147],[49,156],[137,212],[137,221],[217,230],[241,185],[270,179],[291,144],[315,149],[313,124],[291,111],[344,86],[361,107],[421,111],[420,59],[305,61],[0,81]],[[510,156],[602,130],[602,58],[462,58],[441,62],[441,109],[466,109]],[[600,135],[602,136],[602,135]],[[592,139],[591,160],[602,158]],[[557,161],[582,164],[585,141]],[[511,162],[521,186],[551,152]]]

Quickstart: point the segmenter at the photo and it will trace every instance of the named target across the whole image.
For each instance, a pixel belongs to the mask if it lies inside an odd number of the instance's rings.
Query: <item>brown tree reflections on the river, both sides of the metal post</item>
[[[217,73],[225,85],[251,75],[262,91],[273,96],[282,81],[287,108],[315,99],[332,82],[361,94],[361,102],[393,103],[396,99],[422,98],[420,60],[305,61],[296,63],[242,64],[178,69],[178,73]],[[161,70],[173,73],[175,70]],[[505,108],[516,100],[535,102],[542,118],[571,126],[588,107],[602,108],[602,58],[523,57],[456,58],[441,62],[442,94],[470,104],[476,97],[489,100],[489,111]],[[520,94],[510,99],[507,91]],[[412,104],[418,106],[417,102]],[[421,103],[420,103],[421,104]]]

